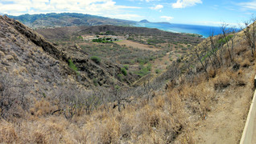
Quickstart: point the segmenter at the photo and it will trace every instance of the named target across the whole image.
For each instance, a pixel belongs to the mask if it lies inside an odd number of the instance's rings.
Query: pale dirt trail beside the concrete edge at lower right
[[[246,70],[246,79],[251,78],[253,70]],[[246,86],[229,86],[218,94],[218,102],[206,116],[195,123],[194,139],[196,143],[238,143],[246,123],[253,91],[252,82]],[[248,94],[252,93],[252,94]],[[244,97],[249,95],[248,97]]]

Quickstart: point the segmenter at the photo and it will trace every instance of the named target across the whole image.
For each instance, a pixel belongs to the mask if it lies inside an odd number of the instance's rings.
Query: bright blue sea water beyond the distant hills
[[[165,31],[170,31],[170,32],[174,32],[174,33],[200,34],[204,38],[208,38],[212,34],[213,35],[221,34],[221,28],[217,27],[217,26],[198,26],[198,25],[161,23],[161,22],[159,22],[159,23],[138,22],[135,26],[147,27],[147,28],[157,28],[159,30],[165,30]]]

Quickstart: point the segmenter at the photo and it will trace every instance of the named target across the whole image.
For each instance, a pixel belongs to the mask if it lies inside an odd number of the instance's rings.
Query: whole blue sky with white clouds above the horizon
[[[192,25],[238,26],[256,16],[256,0],[0,0],[0,14],[82,13]]]

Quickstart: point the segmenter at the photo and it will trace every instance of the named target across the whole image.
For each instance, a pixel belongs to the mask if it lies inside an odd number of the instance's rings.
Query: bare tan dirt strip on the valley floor
[[[115,42],[117,43],[118,45],[122,46],[122,45],[126,45],[126,46],[132,46],[134,48],[138,48],[140,50],[152,50],[152,51],[158,51],[160,49],[157,49],[155,48],[155,46],[153,46],[152,48],[149,46],[149,45],[143,45],[141,43],[138,43],[138,42],[132,42],[132,41],[129,41],[129,40],[122,40],[122,41],[119,41],[119,42]]]

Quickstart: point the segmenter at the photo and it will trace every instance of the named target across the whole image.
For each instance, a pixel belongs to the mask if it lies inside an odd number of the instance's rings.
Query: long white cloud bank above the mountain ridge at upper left
[[[107,16],[139,8],[120,6],[114,0],[0,0],[0,13],[13,15],[73,12]]]

